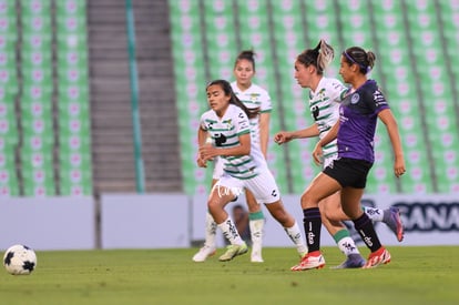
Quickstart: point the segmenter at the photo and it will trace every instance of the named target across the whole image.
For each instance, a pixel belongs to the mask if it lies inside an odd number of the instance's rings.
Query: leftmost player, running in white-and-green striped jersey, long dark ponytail
[[[284,209],[279,190],[259,145],[251,143],[249,119],[256,118],[258,110],[249,110],[245,106],[234,94],[227,81],[212,81],[206,92],[211,110],[201,116],[198,139],[202,141],[208,134],[212,144],[200,141],[197,164],[205,166],[207,161],[218,156],[224,166],[224,173],[212,189],[207,201],[212,217],[231,243],[218,260],[230,261],[247,252],[247,245],[225,211],[226,204],[245,189],[252,192],[258,203],[266,205],[296,245],[298,254],[303,256],[307,248],[299,226]]]

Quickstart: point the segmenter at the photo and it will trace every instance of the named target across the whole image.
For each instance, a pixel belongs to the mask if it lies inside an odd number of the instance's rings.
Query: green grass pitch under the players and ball
[[[31,275],[0,272],[1,304],[459,304],[459,246],[391,246],[374,270],[332,270],[344,256],[324,247],[326,267],[290,272],[294,248],[264,248],[226,263],[194,263],[196,248],[37,251]],[[217,255],[224,250],[218,250]],[[368,251],[360,247],[364,256]],[[216,255],[216,256],[217,256]]]

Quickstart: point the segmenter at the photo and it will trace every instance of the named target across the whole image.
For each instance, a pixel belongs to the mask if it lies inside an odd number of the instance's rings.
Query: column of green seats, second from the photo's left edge
[[[21,175],[26,196],[55,195],[50,0],[20,1]]]

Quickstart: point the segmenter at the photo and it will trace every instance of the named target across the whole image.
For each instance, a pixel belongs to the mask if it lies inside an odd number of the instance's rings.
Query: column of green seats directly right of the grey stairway
[[[188,194],[205,193],[211,171],[196,167],[196,131],[205,111],[205,59],[201,45],[200,6],[197,1],[170,1],[176,106],[182,156],[183,187]],[[210,8],[211,9],[211,8]]]

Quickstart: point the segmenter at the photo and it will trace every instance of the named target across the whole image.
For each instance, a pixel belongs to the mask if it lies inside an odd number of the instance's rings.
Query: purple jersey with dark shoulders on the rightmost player
[[[339,108],[338,157],[375,161],[374,139],[378,113],[388,109],[374,80],[348,92]]]

